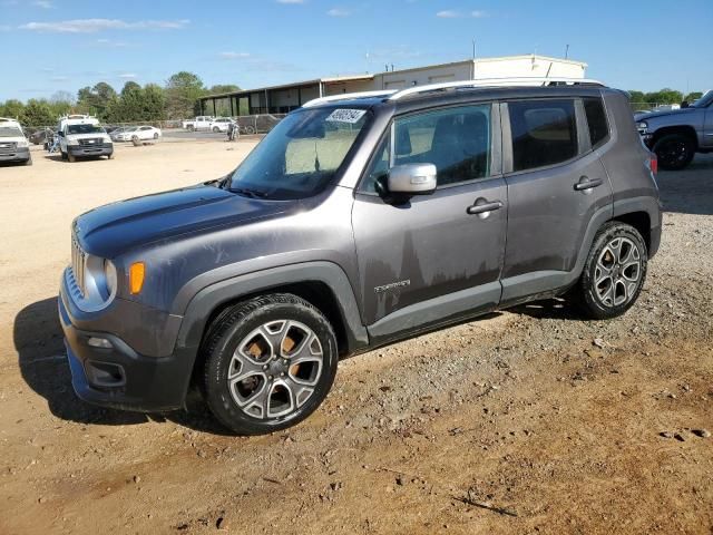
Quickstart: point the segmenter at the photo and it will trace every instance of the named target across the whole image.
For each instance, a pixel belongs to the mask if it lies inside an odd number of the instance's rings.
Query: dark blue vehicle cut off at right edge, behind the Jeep
[[[683,169],[696,153],[713,152],[713,90],[681,109],[636,114],[644,144],[656,153],[662,169]]]

